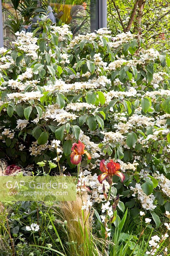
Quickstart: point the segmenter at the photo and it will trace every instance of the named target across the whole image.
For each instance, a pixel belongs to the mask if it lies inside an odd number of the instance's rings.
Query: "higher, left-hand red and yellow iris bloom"
[[[85,150],[85,145],[80,140],[78,140],[78,143],[73,143],[71,151],[71,164],[79,164],[82,159],[81,156],[84,154],[86,154],[89,160],[92,158],[90,154]]]

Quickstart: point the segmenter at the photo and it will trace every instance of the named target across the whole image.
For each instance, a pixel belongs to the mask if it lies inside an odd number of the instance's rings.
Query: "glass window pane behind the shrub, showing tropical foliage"
[[[97,28],[96,0],[16,0],[13,3],[2,2],[4,46],[9,46],[17,31],[32,32],[38,26],[41,12],[48,13],[57,26],[68,24],[73,35],[90,33]]]

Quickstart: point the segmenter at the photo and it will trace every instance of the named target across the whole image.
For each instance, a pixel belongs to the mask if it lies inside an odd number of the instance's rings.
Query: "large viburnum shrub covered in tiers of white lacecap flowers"
[[[113,177],[120,210],[126,204],[135,216],[142,207],[159,226],[153,210],[170,210],[166,52],[106,28],[72,38],[67,25],[41,19],[33,33],[18,32],[11,49],[0,49],[1,158],[33,170],[53,160],[73,173],[71,147],[80,140],[92,157],[82,156],[79,174],[90,200],[102,204],[99,165],[112,159],[125,175],[123,182]]]

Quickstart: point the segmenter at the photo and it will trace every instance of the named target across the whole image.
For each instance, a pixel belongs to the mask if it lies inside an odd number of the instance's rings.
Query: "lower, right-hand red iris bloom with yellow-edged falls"
[[[105,165],[104,159],[101,160],[100,171],[103,173],[98,176],[99,182],[102,183],[103,180],[106,180],[108,177],[112,178],[113,175],[119,176],[123,182],[125,180],[125,175],[122,172],[119,172],[120,168],[120,164],[113,162],[113,160],[110,160],[107,165]]]

